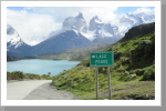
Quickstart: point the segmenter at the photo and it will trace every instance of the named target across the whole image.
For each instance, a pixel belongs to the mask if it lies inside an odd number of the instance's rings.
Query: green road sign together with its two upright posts
[[[95,67],[95,90],[96,100],[98,99],[98,67],[107,67],[108,77],[108,99],[111,100],[111,73],[110,67],[114,64],[113,52],[93,52],[90,53],[90,65]]]

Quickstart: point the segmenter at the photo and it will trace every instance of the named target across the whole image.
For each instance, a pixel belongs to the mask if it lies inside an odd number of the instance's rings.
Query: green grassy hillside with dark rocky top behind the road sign
[[[133,33],[141,29],[139,27],[154,29],[153,24],[155,23],[135,27],[122,40],[107,47],[106,51],[114,51],[115,58],[110,73],[113,100],[155,99],[155,31]],[[133,34],[129,37],[128,33]],[[98,97],[107,99],[106,68],[98,68]],[[59,90],[71,91],[81,99],[93,100],[94,72],[95,69],[90,67],[89,60],[83,60],[75,68],[53,77],[52,84]]]

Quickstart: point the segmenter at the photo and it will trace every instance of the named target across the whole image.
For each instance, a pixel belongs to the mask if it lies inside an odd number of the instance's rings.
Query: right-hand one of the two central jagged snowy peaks
[[[122,38],[118,32],[117,26],[111,23],[104,23],[97,16],[90,20],[89,31],[91,36],[86,36],[92,42],[116,42],[115,37]],[[98,40],[97,40],[98,39]]]

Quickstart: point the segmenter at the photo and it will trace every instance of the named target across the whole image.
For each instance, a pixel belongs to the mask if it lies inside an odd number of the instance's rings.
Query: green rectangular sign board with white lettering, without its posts
[[[90,53],[91,67],[111,67],[114,64],[113,52],[93,52]]]

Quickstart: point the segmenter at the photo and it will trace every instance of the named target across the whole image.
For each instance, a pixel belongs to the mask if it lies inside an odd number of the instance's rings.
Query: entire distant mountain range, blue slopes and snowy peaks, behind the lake
[[[58,52],[72,48],[87,47],[98,42],[114,43],[118,41],[132,27],[149,23],[155,20],[153,14],[124,14],[120,19],[121,27],[104,23],[97,16],[90,20],[87,26],[80,12],[76,17],[64,20],[63,27],[58,32],[37,46],[24,43],[12,26],[7,24],[8,56],[24,57],[41,53]]]

